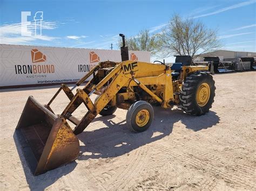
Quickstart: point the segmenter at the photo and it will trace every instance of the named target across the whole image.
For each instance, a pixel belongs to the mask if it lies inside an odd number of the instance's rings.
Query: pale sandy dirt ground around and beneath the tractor
[[[28,96],[46,104],[58,86],[2,89],[0,190],[256,190],[255,74],[214,75],[208,114],[154,107],[153,124],[142,133],[126,128],[126,110],[97,116],[78,136],[79,158],[39,176],[18,154],[14,131]],[[63,93],[52,109],[60,113],[67,103]],[[74,115],[84,114],[83,106]]]

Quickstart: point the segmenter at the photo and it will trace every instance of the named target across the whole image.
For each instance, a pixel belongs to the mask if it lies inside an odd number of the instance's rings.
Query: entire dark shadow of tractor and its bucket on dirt
[[[78,135],[79,140],[85,144],[85,146],[80,146],[82,153],[78,160],[117,157],[129,153],[140,146],[169,136],[172,133],[173,124],[178,121],[181,121],[186,128],[193,131],[211,128],[219,122],[219,117],[213,111],[208,112],[204,116],[195,117],[184,114],[180,109],[170,111],[170,109],[154,107],[154,114],[152,125],[147,131],[142,133],[130,132],[126,127],[125,121],[114,123],[111,119],[115,115],[98,116],[93,122],[102,121],[105,127],[90,132],[84,131]],[[62,176],[72,172],[77,166],[77,162],[73,161],[69,165],[33,176],[22,153],[22,145],[18,145],[16,134],[14,134],[14,139],[22,161],[26,181],[31,190],[44,190]]]

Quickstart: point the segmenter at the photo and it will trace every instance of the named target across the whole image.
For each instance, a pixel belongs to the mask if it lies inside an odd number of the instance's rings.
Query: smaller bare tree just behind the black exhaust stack
[[[150,35],[149,30],[143,30],[137,36],[126,38],[128,49],[131,51],[149,51],[152,55],[157,53],[159,48],[156,35]],[[118,46],[122,46],[122,40],[118,41]]]

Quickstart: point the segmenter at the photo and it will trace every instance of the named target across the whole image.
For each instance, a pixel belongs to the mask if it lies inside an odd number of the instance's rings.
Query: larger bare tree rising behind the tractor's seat
[[[193,18],[183,20],[179,15],[174,15],[161,31],[159,45],[164,56],[191,55],[193,59],[221,46],[216,31]]]

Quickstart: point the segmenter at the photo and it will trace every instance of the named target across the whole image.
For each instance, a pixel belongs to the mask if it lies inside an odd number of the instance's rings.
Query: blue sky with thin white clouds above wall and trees
[[[22,11],[31,12],[31,24],[35,13],[43,11],[42,36],[21,36]],[[256,52],[255,12],[256,0],[0,0],[0,43],[100,49],[110,49],[112,43],[118,49],[119,33],[157,33],[179,13],[217,29],[221,49]]]

